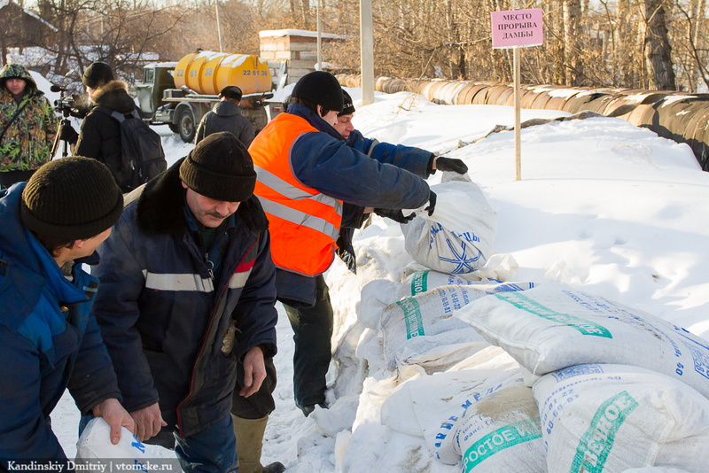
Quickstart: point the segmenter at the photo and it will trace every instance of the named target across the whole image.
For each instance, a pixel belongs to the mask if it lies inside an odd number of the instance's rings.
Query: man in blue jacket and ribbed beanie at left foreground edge
[[[0,192],[0,470],[68,466],[50,423],[66,387],[82,414],[111,425],[113,444],[121,426],[134,430],[91,314],[98,281],[82,270],[122,208],[95,159],[51,161]]]

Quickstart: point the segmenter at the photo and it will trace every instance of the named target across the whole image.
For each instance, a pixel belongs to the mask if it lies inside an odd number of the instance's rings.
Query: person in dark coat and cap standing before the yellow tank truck
[[[244,115],[241,114],[241,89],[235,85],[228,85],[219,93],[221,101],[214,105],[211,112],[206,112],[199,122],[197,136],[194,143],[199,143],[206,136],[218,131],[228,131],[238,138],[248,148],[253,141],[253,127]]]

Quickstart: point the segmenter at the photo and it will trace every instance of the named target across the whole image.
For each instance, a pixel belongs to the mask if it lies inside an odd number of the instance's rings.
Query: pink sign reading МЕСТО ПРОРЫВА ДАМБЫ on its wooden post
[[[492,12],[493,48],[511,48],[514,51],[515,76],[515,181],[522,179],[522,144],[520,130],[519,48],[543,43],[541,8]]]

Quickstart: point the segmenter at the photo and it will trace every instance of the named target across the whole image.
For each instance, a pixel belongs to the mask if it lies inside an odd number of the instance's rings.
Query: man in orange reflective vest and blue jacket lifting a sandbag
[[[294,331],[295,403],[309,415],[326,407],[332,306],[323,273],[334,258],[343,203],[414,209],[435,196],[425,180],[347,146],[334,128],[342,88],[329,73],[304,75],[280,113],[251,143],[255,193],[269,218],[277,297]]]

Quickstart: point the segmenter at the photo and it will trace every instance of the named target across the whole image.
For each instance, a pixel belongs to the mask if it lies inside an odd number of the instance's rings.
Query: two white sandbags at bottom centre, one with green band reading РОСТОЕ
[[[403,384],[382,406],[382,423],[425,438],[437,459],[464,471],[546,471],[532,390],[496,346]]]

